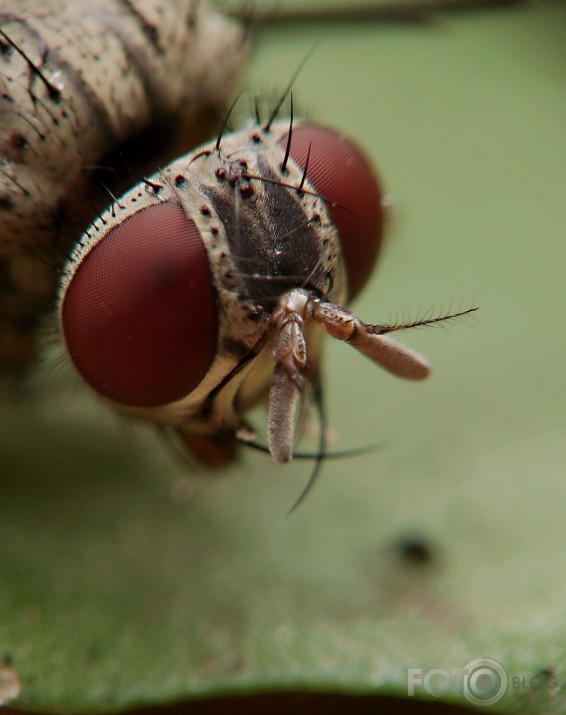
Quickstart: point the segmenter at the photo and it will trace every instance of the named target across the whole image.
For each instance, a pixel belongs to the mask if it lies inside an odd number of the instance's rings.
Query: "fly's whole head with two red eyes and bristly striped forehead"
[[[278,121],[200,147],[75,248],[60,294],[69,356],[100,395],[193,448],[229,451],[269,393],[270,450],[288,461],[296,397],[318,384],[323,306],[361,289],[382,218],[372,168],[333,130]]]

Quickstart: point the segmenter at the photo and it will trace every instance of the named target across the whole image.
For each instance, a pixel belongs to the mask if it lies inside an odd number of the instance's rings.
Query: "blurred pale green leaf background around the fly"
[[[250,95],[283,87],[314,43],[294,97],[367,149],[392,200],[356,313],[481,310],[402,336],[431,359],[422,385],[328,344],[334,448],[384,446],[329,461],[291,517],[308,464],[245,452],[194,480],[144,429],[40,375],[0,416],[14,707],[403,698],[409,668],[492,658],[509,689],[482,711],[566,713],[566,7],[274,25]],[[442,700],[471,707],[456,687]]]

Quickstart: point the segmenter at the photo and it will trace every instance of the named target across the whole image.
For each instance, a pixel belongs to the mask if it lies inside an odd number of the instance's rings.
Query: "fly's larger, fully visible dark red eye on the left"
[[[218,322],[206,248],[179,204],[142,209],[92,249],[65,291],[62,327],[75,367],[105,397],[154,407],[191,392]]]

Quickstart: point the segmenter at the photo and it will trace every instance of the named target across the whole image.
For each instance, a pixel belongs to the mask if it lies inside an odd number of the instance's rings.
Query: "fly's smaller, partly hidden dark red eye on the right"
[[[281,142],[287,144],[287,136]],[[342,134],[314,124],[293,129],[291,157],[305,168],[317,193],[329,202],[328,211],[338,229],[350,300],[367,282],[381,245],[383,205],[375,173],[366,157]]]

